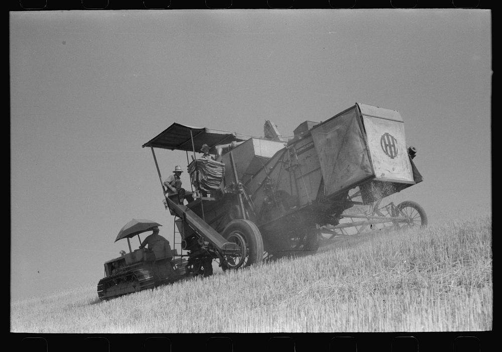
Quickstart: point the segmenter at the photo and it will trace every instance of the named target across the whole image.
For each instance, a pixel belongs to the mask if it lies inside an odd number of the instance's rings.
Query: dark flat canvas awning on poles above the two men
[[[214,146],[216,145],[228,144],[234,141],[246,141],[253,137],[235,132],[213,130],[205,127],[191,127],[174,123],[157,137],[145,143],[143,147],[192,151],[192,136],[196,152],[200,151],[203,144],[207,144],[213,153]]]

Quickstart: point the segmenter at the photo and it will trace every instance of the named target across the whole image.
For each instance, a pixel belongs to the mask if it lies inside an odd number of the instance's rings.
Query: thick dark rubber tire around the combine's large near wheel
[[[244,240],[247,243],[248,256],[247,263],[240,268],[248,267],[250,265],[260,265],[263,261],[263,239],[258,226],[250,220],[235,219],[230,221],[223,230],[222,236],[225,239],[230,237],[234,231],[242,233]]]

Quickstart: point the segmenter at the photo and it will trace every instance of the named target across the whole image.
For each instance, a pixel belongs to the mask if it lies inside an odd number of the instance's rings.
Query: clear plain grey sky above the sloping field
[[[132,218],[172,239],[142,145],[174,122],[292,136],[355,102],[398,110],[424,176],[398,201],[431,225],[491,208],[488,10],[13,12],[9,40],[11,299],[97,285]]]

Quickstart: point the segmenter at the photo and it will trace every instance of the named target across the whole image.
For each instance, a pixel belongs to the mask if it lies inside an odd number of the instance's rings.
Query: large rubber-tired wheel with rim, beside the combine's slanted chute
[[[223,237],[236,243],[240,252],[233,256],[225,256],[223,270],[244,268],[253,264],[261,264],[263,260],[263,240],[258,226],[245,219],[230,221],[222,233]]]

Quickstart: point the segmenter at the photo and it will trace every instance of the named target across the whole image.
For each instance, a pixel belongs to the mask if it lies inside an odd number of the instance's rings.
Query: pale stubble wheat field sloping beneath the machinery
[[[492,329],[491,213],[376,232],[312,256],[100,302],[96,286],[11,302],[11,332]],[[96,283],[100,277],[96,277]]]

